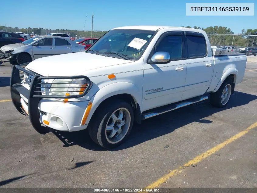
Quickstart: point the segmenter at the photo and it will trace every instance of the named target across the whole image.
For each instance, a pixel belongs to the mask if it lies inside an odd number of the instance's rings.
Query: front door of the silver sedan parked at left
[[[34,59],[54,55],[53,38],[43,38],[35,43],[38,46],[32,46]]]

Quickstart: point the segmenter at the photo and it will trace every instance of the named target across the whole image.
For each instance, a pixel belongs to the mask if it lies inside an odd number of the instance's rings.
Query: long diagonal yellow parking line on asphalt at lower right
[[[251,130],[255,127],[257,127],[257,122],[252,124],[251,126],[247,127],[245,130],[239,132],[238,134],[234,135],[233,137],[231,137],[231,138],[227,139],[226,141],[222,142],[221,144],[211,148],[207,152],[204,152],[201,155],[196,156],[194,159],[192,159],[189,162],[183,164],[183,166],[190,166],[191,164],[196,164],[196,163],[200,162],[204,158],[207,158],[208,156],[210,156],[210,155],[214,154],[215,152],[219,151],[225,145],[227,145],[227,144],[231,143],[232,141],[235,141],[236,139],[238,139],[238,138],[242,137],[243,135],[247,134],[249,132],[249,130]],[[160,179],[156,180],[154,183],[150,184],[146,188],[157,188],[161,184],[165,183],[170,177],[181,173],[182,170],[183,170],[182,167],[179,167],[175,170],[172,170],[171,172],[169,172],[165,176],[161,177]]]

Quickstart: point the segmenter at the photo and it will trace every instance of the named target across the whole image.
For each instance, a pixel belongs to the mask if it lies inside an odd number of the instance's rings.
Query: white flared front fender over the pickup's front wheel
[[[110,98],[114,95],[119,94],[130,94],[134,100],[135,103],[139,104],[140,109],[142,105],[142,92],[138,90],[138,88],[129,82],[117,82],[113,84],[108,84],[107,86],[101,88],[99,91],[96,92],[96,94],[90,99],[90,102],[92,103],[91,110],[89,112],[89,115],[87,116],[87,120],[85,124],[89,123],[89,120],[91,119],[92,115],[96,111],[97,107],[107,98]],[[85,110],[86,113],[86,110]],[[85,116],[85,113],[83,117]]]

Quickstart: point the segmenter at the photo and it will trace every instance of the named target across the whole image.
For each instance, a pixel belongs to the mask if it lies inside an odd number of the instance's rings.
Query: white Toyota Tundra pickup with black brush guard
[[[94,142],[114,148],[134,122],[208,96],[216,107],[227,105],[244,77],[246,56],[221,54],[203,30],[118,27],[85,52],[15,65],[12,102],[41,134],[88,128]]]

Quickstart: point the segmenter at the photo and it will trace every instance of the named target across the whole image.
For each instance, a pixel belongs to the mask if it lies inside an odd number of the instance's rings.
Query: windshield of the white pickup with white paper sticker
[[[138,60],[155,32],[132,29],[110,30],[86,52],[121,59]]]

